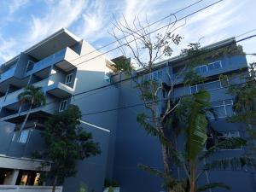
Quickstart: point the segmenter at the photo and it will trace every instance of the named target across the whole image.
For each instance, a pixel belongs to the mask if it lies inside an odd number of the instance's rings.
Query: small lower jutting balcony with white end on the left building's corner
[[[62,84],[60,82],[55,84],[50,84],[45,89],[49,94],[56,96],[58,98],[67,98],[73,94],[73,88],[67,86],[66,84]]]

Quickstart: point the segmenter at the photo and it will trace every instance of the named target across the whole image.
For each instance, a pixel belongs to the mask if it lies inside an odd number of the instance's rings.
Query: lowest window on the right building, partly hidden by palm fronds
[[[212,134],[207,134],[207,143],[205,145],[205,150],[208,150],[209,148],[212,148],[212,146],[215,143],[222,142],[226,139],[234,138],[234,137],[240,137],[240,132],[239,131],[222,131],[222,132],[217,132],[217,136],[214,137]],[[239,148],[224,148],[223,150],[234,150],[234,149],[241,149]]]

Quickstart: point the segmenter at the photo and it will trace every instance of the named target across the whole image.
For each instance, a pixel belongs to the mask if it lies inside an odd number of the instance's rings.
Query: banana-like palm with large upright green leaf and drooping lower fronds
[[[183,169],[186,177],[173,177],[171,174],[166,175],[165,172],[156,170],[150,166],[139,165],[144,171],[162,177],[166,185],[166,189],[172,192],[200,192],[212,188],[230,189],[224,183],[207,183],[204,186],[198,186],[197,181],[203,173],[209,170],[230,169],[235,166],[244,165],[256,166],[256,160],[246,156],[236,158],[223,158],[212,160],[206,163],[206,159],[212,154],[215,154],[221,149],[240,148],[246,144],[246,141],[241,138],[230,138],[223,141],[218,141],[212,144],[212,147],[204,150],[207,143],[207,131],[211,131],[207,119],[208,109],[210,107],[210,95],[207,91],[201,90],[193,96],[187,96],[182,99],[182,102],[175,111],[172,119],[170,130],[172,136],[178,137],[185,131],[185,147],[176,148],[169,145],[169,156],[172,165]],[[178,130],[179,129],[179,130]],[[182,131],[184,130],[184,131]],[[213,134],[214,135],[214,134]],[[173,140],[174,138],[164,138],[165,140]],[[177,139],[177,138],[176,138]],[[166,144],[168,145],[167,141]],[[178,171],[177,171],[178,172]]]

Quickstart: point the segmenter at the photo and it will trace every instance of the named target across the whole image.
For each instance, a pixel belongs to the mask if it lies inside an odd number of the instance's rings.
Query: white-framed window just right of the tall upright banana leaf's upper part
[[[220,102],[212,102],[213,113],[217,118],[226,118],[230,117],[234,114],[233,111],[233,101],[232,100],[224,100]],[[207,114],[209,119],[215,119],[212,113]]]

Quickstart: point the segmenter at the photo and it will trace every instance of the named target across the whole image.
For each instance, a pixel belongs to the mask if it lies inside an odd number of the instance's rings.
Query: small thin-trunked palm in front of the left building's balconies
[[[26,88],[18,95],[18,100],[20,102],[20,106],[25,102],[28,102],[30,105],[28,112],[26,113],[26,118],[20,127],[20,131],[22,131],[26,125],[26,121],[31,113],[32,107],[36,105],[45,105],[46,100],[42,87],[35,87],[33,85],[26,86]]]

